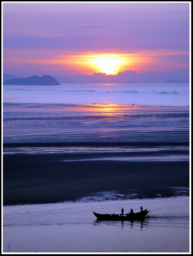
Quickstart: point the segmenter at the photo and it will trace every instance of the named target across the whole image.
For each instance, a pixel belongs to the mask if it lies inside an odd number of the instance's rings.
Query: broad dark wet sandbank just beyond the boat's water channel
[[[102,191],[169,197],[172,187],[189,187],[188,161],[64,161],[68,159],[72,155],[4,155],[3,204],[56,203]],[[76,159],[80,156],[73,155]]]

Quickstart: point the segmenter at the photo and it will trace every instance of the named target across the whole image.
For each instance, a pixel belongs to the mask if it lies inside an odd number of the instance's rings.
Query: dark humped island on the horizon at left
[[[3,82],[3,85],[60,85],[54,77],[44,76],[30,76],[25,78],[11,78]]]

